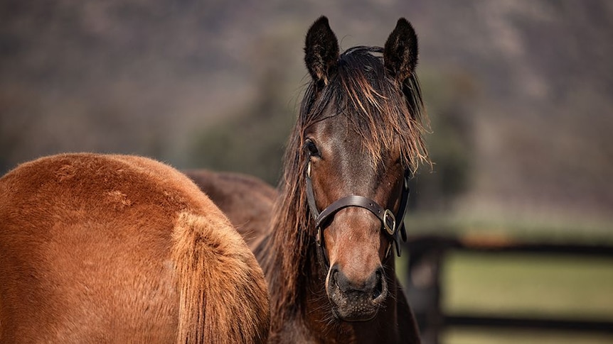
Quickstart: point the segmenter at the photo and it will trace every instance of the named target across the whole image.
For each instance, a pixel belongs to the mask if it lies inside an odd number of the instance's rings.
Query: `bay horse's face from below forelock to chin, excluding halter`
[[[347,117],[330,116],[309,128],[305,137],[316,205],[325,209],[348,195],[368,197],[397,211],[403,182],[400,149],[383,152],[378,164],[348,131]],[[376,316],[388,294],[383,260],[390,238],[370,211],[350,206],[322,225],[326,292],[333,314],[344,321]],[[325,264],[328,263],[328,264]]]

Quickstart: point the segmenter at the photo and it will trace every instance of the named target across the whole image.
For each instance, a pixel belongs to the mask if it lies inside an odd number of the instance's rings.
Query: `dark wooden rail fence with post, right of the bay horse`
[[[563,245],[521,243],[508,240],[467,240],[440,236],[410,238],[407,243],[409,264],[404,285],[422,332],[424,344],[439,344],[447,328],[506,328],[539,331],[581,331],[613,335],[613,321],[587,321],[580,318],[530,318],[481,316],[479,314],[445,314],[442,309],[441,274],[447,253],[464,251],[498,255],[501,253],[532,255],[575,255],[613,257],[610,245]],[[612,295],[613,297],[613,295]]]

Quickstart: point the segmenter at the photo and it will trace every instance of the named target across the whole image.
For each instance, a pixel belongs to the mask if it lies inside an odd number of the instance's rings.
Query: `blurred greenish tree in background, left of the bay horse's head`
[[[266,44],[267,43],[267,44]],[[287,67],[289,53],[282,38],[256,46],[257,95],[250,105],[216,125],[193,135],[190,167],[242,172],[276,185],[282,168],[284,143],[289,137],[297,109],[289,106]],[[263,56],[261,56],[263,55]]]

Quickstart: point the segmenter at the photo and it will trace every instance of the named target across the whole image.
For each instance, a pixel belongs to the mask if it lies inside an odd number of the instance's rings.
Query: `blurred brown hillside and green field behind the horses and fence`
[[[400,16],[420,38],[435,165],[415,178],[413,235],[613,243],[607,0],[4,0],[0,173],[57,152],[122,152],[276,184],[309,81],[304,35],[321,14],[341,49],[383,45]],[[446,311],[613,320],[610,258],[444,260]],[[505,331],[440,340],[613,342]]]

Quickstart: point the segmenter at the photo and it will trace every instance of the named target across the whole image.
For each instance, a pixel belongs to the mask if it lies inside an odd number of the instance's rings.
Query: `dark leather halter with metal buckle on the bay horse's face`
[[[345,196],[337,201],[334,201],[329,206],[326,206],[326,209],[323,211],[319,211],[317,209],[317,204],[315,203],[315,194],[313,192],[313,184],[311,182],[311,162],[307,165],[307,201],[309,201],[309,208],[311,209],[311,216],[315,221],[315,227],[317,228],[317,234],[315,236],[315,242],[317,245],[322,248],[324,245],[323,233],[322,231],[325,229],[326,220],[328,220],[334,213],[337,211],[347,208],[349,206],[358,206],[363,209],[367,209],[371,211],[371,213],[375,214],[377,218],[381,221],[381,229],[385,231],[386,234],[391,238],[394,242],[396,248],[396,254],[400,257],[400,240],[399,234],[402,237],[403,241],[407,241],[407,232],[405,229],[405,213],[407,211],[408,199],[409,199],[409,170],[405,171],[404,180],[403,180],[403,193],[400,196],[400,206],[398,207],[398,213],[394,215],[390,209],[384,209],[377,202],[372,199],[368,199],[364,196]],[[397,221],[399,219],[400,221]],[[387,252],[385,253],[385,257],[388,257],[390,253],[391,243],[388,247]]]

